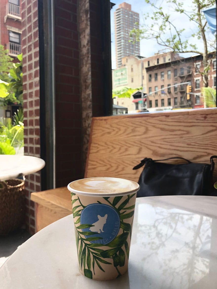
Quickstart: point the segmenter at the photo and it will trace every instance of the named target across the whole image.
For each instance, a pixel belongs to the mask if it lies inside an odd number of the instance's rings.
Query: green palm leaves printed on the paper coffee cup
[[[73,192],[71,192],[71,196],[76,195]],[[93,274],[95,275],[95,264],[100,268],[101,271],[105,272],[102,268],[102,264],[108,264],[112,265],[111,262],[113,262],[114,267],[117,270],[117,277],[121,276],[121,273],[118,270],[118,267],[122,267],[125,264],[125,253],[122,247],[124,246],[127,258],[129,259],[129,245],[127,242],[127,238],[130,234],[130,240],[132,235],[132,223],[125,223],[124,220],[131,218],[134,214],[134,208],[135,205],[132,205],[130,207],[126,207],[129,200],[134,196],[127,195],[127,198],[116,208],[115,206],[121,201],[123,196],[118,196],[113,199],[113,202],[111,203],[109,201],[110,197],[104,197],[103,199],[106,200],[106,202],[111,205],[115,211],[118,213],[120,218],[120,228],[122,229],[122,234],[116,236],[111,242],[108,244],[89,244],[90,241],[97,241],[101,240],[103,238],[97,236],[99,233],[97,232],[91,232],[91,231],[82,231],[82,229],[86,229],[89,227],[93,227],[91,224],[81,224],[76,226],[76,224],[80,223],[80,215],[81,211],[85,208],[84,205],[82,205],[79,197],[77,199],[72,200],[72,205],[79,202],[79,205],[76,205],[73,207],[72,213],[73,218],[78,217],[75,224],[75,234],[76,234],[76,246],[78,251],[78,262],[80,269],[82,270],[82,267],[84,268],[84,275],[89,278],[93,278]],[[100,203],[98,201],[98,203]],[[101,204],[101,203],[100,203]],[[129,212],[130,211],[130,212]],[[91,237],[85,237],[89,236]],[[95,237],[92,237],[92,235],[96,235]],[[80,247],[79,247],[80,244]],[[99,247],[107,246],[107,250],[102,250]],[[109,249],[112,248],[112,249]],[[92,256],[92,262],[91,262],[91,256]],[[110,258],[111,262],[107,262],[103,258]],[[92,264],[91,264],[92,263]]]

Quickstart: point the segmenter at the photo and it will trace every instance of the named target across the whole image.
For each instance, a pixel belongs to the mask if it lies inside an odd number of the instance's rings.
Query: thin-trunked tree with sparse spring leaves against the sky
[[[207,40],[207,32],[209,27],[205,19],[203,10],[211,8],[216,5],[215,0],[193,0],[187,2],[178,0],[167,0],[161,2],[155,2],[145,0],[153,8],[152,14],[144,15],[145,25],[141,29],[133,29],[130,32],[130,41],[139,41],[141,39],[155,39],[159,45],[165,49],[177,53],[196,53],[203,56],[203,71],[201,73],[204,86],[208,86],[208,73],[210,69],[210,60],[208,59],[208,53],[210,51],[216,51],[216,35],[214,41]],[[167,7],[167,11],[163,8]],[[183,15],[187,21],[189,21],[190,27],[196,27],[195,31],[186,37],[186,31],[183,28],[183,22],[179,22],[176,26],[174,24],[174,13],[176,15]],[[178,13],[178,14],[177,14]],[[185,21],[185,20],[184,20]],[[193,31],[193,29],[192,29]],[[203,42],[203,50],[197,48],[195,39]],[[208,50],[209,49],[209,50]],[[214,53],[215,54],[215,53]]]

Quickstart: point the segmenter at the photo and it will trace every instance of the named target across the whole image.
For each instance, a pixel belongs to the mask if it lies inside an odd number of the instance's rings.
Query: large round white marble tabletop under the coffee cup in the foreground
[[[136,201],[128,272],[95,281],[78,270],[73,218],[45,227],[0,268],[3,289],[216,289],[217,197]]]

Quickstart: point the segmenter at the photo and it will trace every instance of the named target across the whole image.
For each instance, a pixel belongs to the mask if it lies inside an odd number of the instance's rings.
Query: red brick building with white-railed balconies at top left
[[[0,44],[11,57],[22,53],[21,34],[21,0],[1,0]]]

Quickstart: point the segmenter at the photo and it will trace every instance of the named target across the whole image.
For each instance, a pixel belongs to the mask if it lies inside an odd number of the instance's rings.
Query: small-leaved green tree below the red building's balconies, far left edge
[[[0,79],[9,82],[8,73],[10,68],[13,67],[13,58],[8,55],[8,50],[0,44]]]

